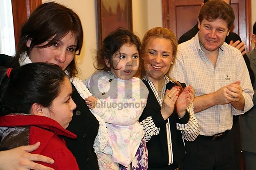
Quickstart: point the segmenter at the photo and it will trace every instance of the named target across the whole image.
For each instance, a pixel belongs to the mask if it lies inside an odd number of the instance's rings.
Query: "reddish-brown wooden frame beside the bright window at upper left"
[[[22,24],[26,22],[27,18],[30,16],[30,13],[32,13],[34,9],[41,4],[42,0],[11,0],[16,47],[21,35]]]

